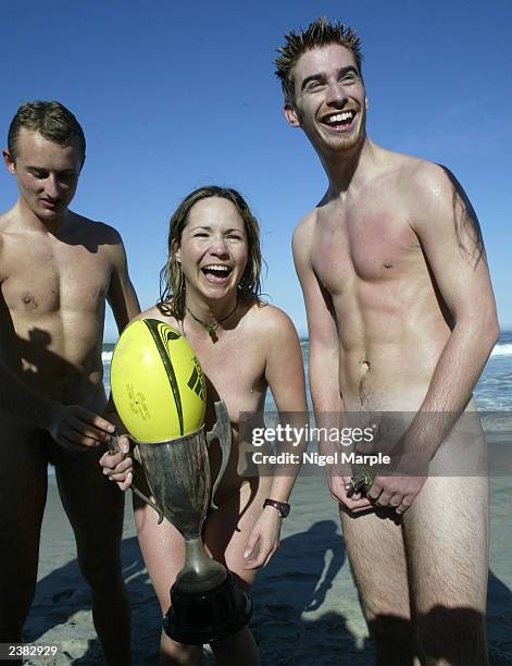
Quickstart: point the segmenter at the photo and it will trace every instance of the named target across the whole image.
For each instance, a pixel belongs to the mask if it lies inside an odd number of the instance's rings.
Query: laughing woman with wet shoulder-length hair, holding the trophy
[[[218,510],[209,513],[203,540],[212,556],[236,574],[246,589],[278,546],[282,511],[286,514],[295,477],[243,478],[240,414],[262,417],[269,387],[279,412],[307,409],[297,333],[284,312],[261,301],[260,269],[258,222],[243,198],[234,189],[202,187],[189,194],[171,218],[161,301],[140,316],[168,323],[195,349],[207,379],[207,428],[214,421],[214,402],[226,404],[232,455],[215,496]],[[132,462],[129,458],[120,462],[120,457],[105,455],[102,466],[125,489],[132,481]],[[220,452],[213,448],[210,457],[214,478]],[[272,504],[265,503],[267,498]],[[137,501],[135,520],[165,614],[170,588],[184,564],[184,540],[167,521],[157,525],[153,509]],[[211,646],[218,664],[260,663],[247,627]],[[201,661],[200,646],[176,643],[162,633],[161,665]]]

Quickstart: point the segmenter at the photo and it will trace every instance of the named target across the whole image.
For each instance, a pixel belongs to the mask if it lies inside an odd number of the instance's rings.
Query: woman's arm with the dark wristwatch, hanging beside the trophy
[[[265,381],[272,391],[279,422],[285,421],[292,428],[304,428],[308,417],[305,403],[304,369],[299,338],[291,320],[277,308],[265,306]],[[279,442],[278,453],[292,452],[302,455],[304,441]],[[269,497],[277,502],[288,502],[300,465],[277,466],[274,469]],[[279,545],[282,517],[273,506],[262,507],[247,541],[243,557],[246,569],[264,567]]]

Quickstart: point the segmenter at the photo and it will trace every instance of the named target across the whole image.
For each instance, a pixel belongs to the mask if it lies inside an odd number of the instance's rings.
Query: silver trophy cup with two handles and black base
[[[185,566],[171,589],[171,608],[163,626],[173,640],[189,645],[210,643],[236,633],[252,614],[252,601],[222,564],[205,552],[201,531],[232,448],[232,428],[224,402],[215,403],[216,422],[188,435],[160,443],[136,443],[134,457],[143,468],[154,502],[134,492],[165,517],[185,539]],[[211,488],[208,446],[217,440],[222,464]],[[118,451],[113,437],[111,452]]]

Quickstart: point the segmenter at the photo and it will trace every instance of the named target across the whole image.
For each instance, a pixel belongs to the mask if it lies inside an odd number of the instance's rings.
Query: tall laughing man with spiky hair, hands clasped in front
[[[285,116],[329,181],[294,235],[315,412],[413,412],[401,451],[432,461],[428,478],[377,476],[367,496],[328,473],[377,663],[482,666],[487,480],[432,471],[442,449],[465,452],[452,427],[499,333],[477,220],[446,169],[367,138],[352,29],[317,20],[276,65]]]

